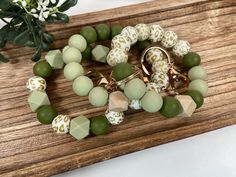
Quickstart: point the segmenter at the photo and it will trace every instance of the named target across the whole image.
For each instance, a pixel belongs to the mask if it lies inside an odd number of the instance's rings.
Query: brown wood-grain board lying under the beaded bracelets
[[[1,176],[49,176],[236,123],[235,0],[158,0],[74,16],[69,24],[48,28],[56,37],[52,48],[65,46],[82,26],[100,22],[123,26],[158,22],[188,40],[209,74],[204,106],[185,119],[130,111],[108,135],[83,141],[58,136],[49,125],[40,125],[27,105],[25,82],[32,76],[32,50],[8,46],[4,53],[13,60],[0,65]],[[132,63],[138,64],[138,53],[131,53]],[[110,70],[96,63],[83,65],[105,73]],[[104,113],[105,108],[94,108],[86,97],[76,96],[61,71],[48,83],[49,97],[59,113],[72,117]]]

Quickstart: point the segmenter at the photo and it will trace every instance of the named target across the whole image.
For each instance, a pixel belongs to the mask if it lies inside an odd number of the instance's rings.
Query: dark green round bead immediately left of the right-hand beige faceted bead
[[[182,107],[178,100],[176,100],[174,97],[166,96],[163,98],[163,105],[160,110],[161,115],[171,118],[177,116]]]

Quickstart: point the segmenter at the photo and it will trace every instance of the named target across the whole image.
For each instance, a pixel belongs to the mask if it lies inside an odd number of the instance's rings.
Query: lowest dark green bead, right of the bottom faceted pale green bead
[[[91,120],[91,131],[94,135],[104,135],[109,131],[109,122],[105,116],[96,116]]]

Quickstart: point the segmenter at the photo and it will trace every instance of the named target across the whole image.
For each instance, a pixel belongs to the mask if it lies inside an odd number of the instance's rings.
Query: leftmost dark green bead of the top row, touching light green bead
[[[84,36],[88,44],[92,44],[97,41],[97,32],[92,26],[83,27],[80,34]]]

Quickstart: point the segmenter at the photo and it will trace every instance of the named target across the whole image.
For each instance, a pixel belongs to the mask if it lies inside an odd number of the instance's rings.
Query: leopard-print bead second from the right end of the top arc
[[[178,36],[175,32],[166,31],[161,40],[161,45],[166,48],[171,48],[177,43],[177,40],[178,40]]]

